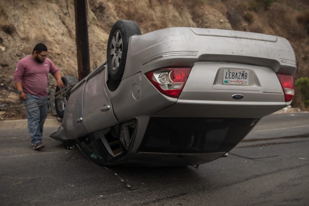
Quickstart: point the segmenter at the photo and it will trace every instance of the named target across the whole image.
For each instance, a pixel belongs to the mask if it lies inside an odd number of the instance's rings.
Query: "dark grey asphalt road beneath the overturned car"
[[[41,151],[26,129],[0,130],[1,206],[309,205],[309,113],[267,116],[228,157],[198,168],[110,168],[131,189],[49,138],[56,129],[44,129]]]

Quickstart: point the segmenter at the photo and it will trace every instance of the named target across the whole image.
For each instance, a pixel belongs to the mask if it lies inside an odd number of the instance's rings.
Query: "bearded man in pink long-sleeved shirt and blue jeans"
[[[43,43],[36,44],[32,54],[21,59],[14,72],[14,82],[19,94],[19,99],[26,105],[28,119],[28,131],[31,137],[33,149],[43,148],[42,134],[43,124],[47,117],[47,78],[51,73],[57,80],[57,85],[63,87],[59,69],[47,58],[47,47]],[[40,101],[42,100],[42,101]],[[36,102],[38,101],[38,102]],[[36,102],[36,103],[33,103]],[[29,103],[32,103],[29,105]],[[35,107],[38,106],[38,107]],[[30,108],[29,107],[35,107]]]

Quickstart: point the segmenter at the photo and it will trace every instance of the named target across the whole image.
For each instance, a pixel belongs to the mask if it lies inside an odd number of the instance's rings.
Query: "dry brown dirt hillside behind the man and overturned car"
[[[309,77],[307,0],[88,0],[91,69],[106,60],[109,31],[119,19],[136,21],[142,33],[184,26],[258,32],[288,39],[296,53],[295,79]],[[0,1],[0,107],[19,103],[13,74],[17,62],[44,42],[63,75],[77,77],[74,0]],[[55,81],[49,76],[51,88]],[[303,107],[296,95],[294,104]],[[0,118],[24,118],[2,112]]]

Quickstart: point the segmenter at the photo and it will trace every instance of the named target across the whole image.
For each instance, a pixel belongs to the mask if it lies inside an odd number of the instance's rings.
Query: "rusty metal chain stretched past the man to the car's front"
[[[49,95],[49,96],[46,96],[44,97],[43,99],[39,99],[35,102],[31,102],[31,103],[27,103],[27,104],[24,104],[24,105],[18,105],[18,106],[12,106],[12,107],[0,107],[0,110],[3,110],[3,111],[12,111],[12,110],[24,110],[24,109],[32,109],[32,108],[35,108],[35,107],[40,107],[44,104],[47,104],[47,103],[50,103],[51,101],[53,101],[54,99],[59,99],[60,97],[64,97],[67,93],[67,91],[70,91],[73,87],[75,86],[75,84],[70,84],[66,87],[62,87],[59,91],[57,91],[55,94],[52,94],[52,95]],[[28,105],[31,105],[31,104],[35,104],[35,103],[39,103],[39,102],[42,102],[44,101],[45,99],[49,99],[48,101],[44,102],[44,103],[41,103],[41,104],[38,104],[36,106],[33,106],[33,107],[27,107],[27,108],[24,108]]]

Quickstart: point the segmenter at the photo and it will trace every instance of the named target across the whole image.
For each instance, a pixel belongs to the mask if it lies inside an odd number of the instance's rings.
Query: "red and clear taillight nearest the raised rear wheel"
[[[190,71],[191,68],[164,68],[147,72],[145,75],[161,93],[178,98]]]

